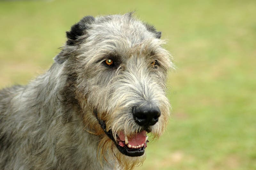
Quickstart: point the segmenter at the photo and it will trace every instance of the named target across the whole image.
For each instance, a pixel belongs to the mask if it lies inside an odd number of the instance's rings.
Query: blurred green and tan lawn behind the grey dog
[[[178,69],[172,117],[138,169],[256,169],[256,1],[0,1],[0,88],[52,64],[84,15],[126,13],[154,24]]]

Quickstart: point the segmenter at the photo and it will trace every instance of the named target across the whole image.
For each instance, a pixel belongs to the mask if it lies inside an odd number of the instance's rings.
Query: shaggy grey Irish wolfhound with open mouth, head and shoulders
[[[84,17],[46,73],[0,91],[0,169],[132,169],[169,117],[170,54],[131,13]]]

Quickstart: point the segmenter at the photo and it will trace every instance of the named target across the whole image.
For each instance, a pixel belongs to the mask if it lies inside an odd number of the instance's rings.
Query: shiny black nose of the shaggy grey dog
[[[132,111],[135,122],[145,128],[155,125],[161,115],[159,107],[154,105],[135,106]]]

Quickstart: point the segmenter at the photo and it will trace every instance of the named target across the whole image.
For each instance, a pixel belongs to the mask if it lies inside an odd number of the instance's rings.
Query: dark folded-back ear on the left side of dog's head
[[[79,42],[77,41],[77,39],[80,36],[86,34],[86,29],[88,29],[89,25],[92,24],[94,21],[94,17],[86,16],[83,19],[81,19],[78,23],[73,25],[70,31],[66,32],[68,38],[66,42],[66,47],[64,47],[64,49],[54,58],[55,62],[62,64],[68,59],[69,53],[65,51],[65,49],[78,44]]]

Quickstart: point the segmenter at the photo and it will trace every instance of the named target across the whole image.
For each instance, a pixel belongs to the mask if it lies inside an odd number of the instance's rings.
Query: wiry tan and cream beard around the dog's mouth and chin
[[[159,138],[165,131],[166,125],[168,123],[168,118],[170,116],[170,104],[168,99],[163,94],[155,95],[156,100],[159,101],[159,107],[162,112],[159,121],[154,125],[149,127],[151,139]],[[161,100],[160,100],[161,99]],[[103,161],[108,162],[113,168],[117,169],[132,169],[135,166],[140,166],[146,158],[146,153],[142,156],[130,157],[121,153],[117,147],[118,143],[118,133],[123,132],[128,138],[140,133],[143,129],[134,122],[131,113],[127,112],[127,109],[120,105],[108,107],[108,111],[103,110],[105,105],[98,105],[98,113],[100,120],[104,120],[106,123],[106,130],[112,131],[114,141],[111,140],[103,131],[98,120],[93,113],[95,106],[88,104],[90,101],[80,101],[80,105],[83,113],[83,120],[85,125],[85,130],[94,135],[100,136],[100,141],[98,142],[97,158],[99,159],[101,165],[103,166]],[[126,106],[127,108],[127,106]],[[90,122],[90,123],[88,123]],[[116,143],[115,143],[116,142]]]

